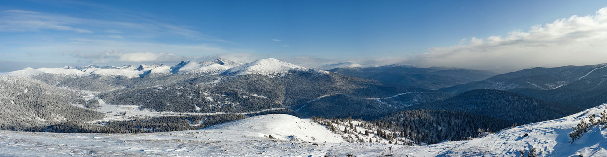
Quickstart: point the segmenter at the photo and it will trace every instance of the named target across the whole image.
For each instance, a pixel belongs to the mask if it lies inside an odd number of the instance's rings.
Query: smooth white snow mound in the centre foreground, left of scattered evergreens
[[[341,135],[327,130],[320,124],[286,114],[260,115],[205,129],[246,132],[243,134],[259,137],[271,135],[276,139],[290,141],[346,143]]]

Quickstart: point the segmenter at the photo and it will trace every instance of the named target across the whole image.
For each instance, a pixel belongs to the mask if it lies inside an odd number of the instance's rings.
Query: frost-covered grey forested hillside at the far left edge
[[[0,77],[0,129],[27,130],[65,121],[92,121],[104,114],[72,104],[83,95],[39,80]]]

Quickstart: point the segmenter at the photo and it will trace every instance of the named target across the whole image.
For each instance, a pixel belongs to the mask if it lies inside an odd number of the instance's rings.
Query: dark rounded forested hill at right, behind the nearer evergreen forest
[[[542,101],[497,89],[474,89],[445,100],[412,106],[410,109],[470,112],[517,124],[552,120],[582,111],[567,104]]]

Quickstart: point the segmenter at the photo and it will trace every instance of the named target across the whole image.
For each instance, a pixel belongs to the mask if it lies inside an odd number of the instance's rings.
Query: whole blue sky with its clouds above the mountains
[[[602,38],[584,34],[603,33],[603,7],[607,1],[2,0],[0,72],[216,57],[497,71],[607,63],[571,59],[605,54],[596,47]],[[560,19],[564,26],[550,27]]]

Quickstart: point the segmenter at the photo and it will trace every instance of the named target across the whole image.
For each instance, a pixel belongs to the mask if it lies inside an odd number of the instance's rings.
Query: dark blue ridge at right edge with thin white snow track
[[[533,68],[496,75],[478,82],[441,88],[461,93],[472,89],[501,89],[543,101],[588,109],[607,102],[607,65]]]

